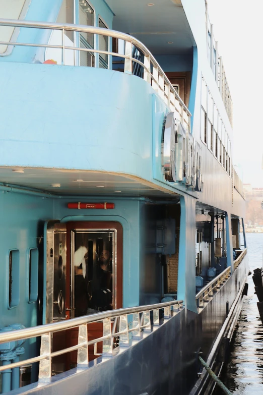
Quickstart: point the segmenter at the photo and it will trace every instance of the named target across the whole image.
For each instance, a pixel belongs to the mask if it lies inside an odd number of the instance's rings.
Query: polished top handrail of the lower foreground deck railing
[[[91,322],[101,321],[105,318],[114,318],[125,314],[141,313],[146,310],[162,309],[164,307],[169,307],[173,305],[178,305],[179,308],[180,305],[182,305],[182,303],[183,301],[179,300],[179,301],[172,301],[165,303],[157,303],[154,305],[127,307],[124,309],[114,309],[110,311],[104,311],[102,313],[95,313],[92,315],[85,315],[83,317],[72,318],[65,321],[53,322],[51,324],[33,326],[30,328],[19,329],[19,330],[12,330],[10,332],[0,333],[0,344],[11,342],[14,340],[37,337],[37,336],[41,336],[44,333],[70,329],[83,324],[89,324]]]

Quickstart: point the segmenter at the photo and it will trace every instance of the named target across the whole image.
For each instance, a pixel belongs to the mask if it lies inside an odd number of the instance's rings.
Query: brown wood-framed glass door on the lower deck
[[[67,223],[67,264],[69,266],[66,285],[68,292],[65,306],[67,311],[70,312],[69,316],[71,318],[86,315],[87,312],[85,314],[85,309],[88,309],[89,313],[89,310],[92,312],[95,310],[94,312],[96,312],[122,307],[122,243],[122,227],[118,222],[79,221]],[[109,261],[107,263],[108,270],[105,271],[107,275],[111,273],[112,285],[110,287],[112,287],[112,306],[109,304],[103,308],[103,306],[100,307],[101,301],[93,301],[96,292],[97,294],[100,292],[100,285],[97,284],[94,286],[92,283],[95,281],[94,273],[96,269],[101,272],[101,267],[105,267],[105,261],[100,260],[104,259],[103,257],[101,258],[101,255],[105,255],[105,251],[109,252]],[[82,252],[82,255],[84,254],[83,257],[79,254],[80,252]],[[84,279],[83,273],[84,265],[86,280]],[[73,280],[74,276],[75,280]],[[81,276],[83,276],[83,279]],[[76,283],[77,278],[78,286]],[[74,285],[78,287],[78,289],[74,290]],[[80,290],[81,287],[83,287],[83,293]],[[83,300],[85,297],[85,287],[88,289],[87,300]],[[71,292],[72,289],[74,290],[74,295]],[[105,289],[105,287],[103,289]],[[99,299],[97,298],[97,300]],[[102,322],[89,324],[89,341],[100,336],[102,336]],[[76,345],[78,343],[78,328],[68,330],[65,338],[67,339],[67,347]],[[97,354],[101,352],[102,343],[97,346]],[[97,358],[97,355],[94,355],[94,346],[89,346],[89,361],[95,358]],[[70,353],[68,357],[68,369],[70,365],[72,366],[76,363],[77,351]]]

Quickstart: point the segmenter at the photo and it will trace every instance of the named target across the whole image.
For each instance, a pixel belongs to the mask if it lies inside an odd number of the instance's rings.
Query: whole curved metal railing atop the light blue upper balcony
[[[171,111],[178,113],[178,119],[184,127],[190,131],[190,112],[178,93],[172,86],[171,82],[165,75],[159,63],[155,60],[152,53],[147,47],[135,37],[128,34],[121,33],[118,31],[104,29],[94,26],[85,25],[74,25],[74,24],[61,24],[61,23],[47,23],[47,22],[34,22],[34,21],[21,21],[13,19],[0,19],[0,26],[13,26],[20,28],[37,28],[37,29],[48,29],[48,30],[59,30],[62,33],[61,44],[36,44],[36,43],[25,43],[25,42],[11,42],[11,41],[0,41],[0,45],[8,46],[30,46],[30,47],[41,47],[41,48],[56,48],[61,50],[61,64],[64,64],[65,50],[84,51],[89,53],[99,53],[103,55],[114,56],[124,59],[124,73],[133,74],[133,64],[138,64],[143,68],[143,79],[152,85],[155,92],[164,100],[165,104]],[[125,43],[124,54],[111,52],[108,50],[101,50],[96,48],[80,47],[73,43],[73,46],[65,45],[65,32],[72,31],[75,33],[92,33],[102,35],[106,37],[112,37],[119,40],[123,40]],[[94,40],[96,41],[96,40]],[[79,43],[78,43],[79,44]],[[133,47],[136,47],[143,54],[143,62],[139,59],[133,58]],[[75,61],[74,61],[75,62]],[[78,65],[78,64],[77,64]]]

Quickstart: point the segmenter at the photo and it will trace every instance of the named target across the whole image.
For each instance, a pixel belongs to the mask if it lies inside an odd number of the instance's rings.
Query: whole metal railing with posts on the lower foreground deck
[[[136,342],[149,335],[150,332],[154,331],[164,322],[169,320],[174,314],[179,312],[183,308],[182,304],[183,301],[180,300],[159,303],[155,305],[116,309],[65,321],[58,321],[51,324],[0,333],[0,344],[17,342],[19,340],[26,340],[28,338],[41,336],[41,348],[39,356],[0,366],[0,372],[6,369],[14,369],[21,365],[39,362],[38,379],[39,381],[45,381],[51,377],[52,358],[58,355],[77,350],[77,366],[88,366],[88,346],[90,345],[94,345],[95,356],[101,355],[102,360],[104,357],[108,359],[117,355],[121,347],[132,347]],[[160,310],[163,310],[163,318],[161,319]],[[87,324],[98,321],[102,321],[103,335],[89,341]],[[72,329],[75,327],[78,327],[79,329],[78,344],[52,352],[52,334],[61,330]],[[117,347],[115,347],[116,338],[118,338]],[[100,342],[102,342],[102,354],[97,354],[97,344]]]

